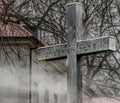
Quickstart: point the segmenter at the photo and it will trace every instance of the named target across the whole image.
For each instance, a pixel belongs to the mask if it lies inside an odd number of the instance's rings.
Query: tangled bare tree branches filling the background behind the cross
[[[85,93],[89,96],[119,96],[120,1],[75,0],[83,6],[83,37],[115,36],[117,51],[83,57]],[[0,22],[24,25],[32,31],[50,33],[66,41],[65,5],[72,0],[2,0]],[[46,34],[45,34],[46,35]],[[109,95],[108,95],[109,94]]]

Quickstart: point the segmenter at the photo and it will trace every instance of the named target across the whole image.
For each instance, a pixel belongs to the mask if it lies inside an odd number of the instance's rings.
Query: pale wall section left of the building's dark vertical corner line
[[[29,49],[0,47],[0,103],[28,103]]]

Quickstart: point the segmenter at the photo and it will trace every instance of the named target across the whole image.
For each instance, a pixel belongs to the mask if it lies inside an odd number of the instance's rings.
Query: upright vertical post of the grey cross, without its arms
[[[80,3],[67,5],[67,103],[82,103],[82,73],[80,58],[77,57],[76,41],[81,40],[82,6]]]

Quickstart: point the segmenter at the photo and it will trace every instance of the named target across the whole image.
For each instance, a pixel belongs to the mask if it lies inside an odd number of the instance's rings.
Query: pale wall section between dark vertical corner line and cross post
[[[33,98],[37,98],[33,103],[66,103],[66,73],[59,73],[47,61],[34,59],[32,64]]]

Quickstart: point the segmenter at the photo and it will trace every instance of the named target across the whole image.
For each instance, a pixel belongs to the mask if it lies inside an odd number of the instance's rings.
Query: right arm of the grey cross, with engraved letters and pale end
[[[77,54],[99,53],[103,51],[116,50],[115,37],[100,37],[91,40],[84,40],[77,43]]]

